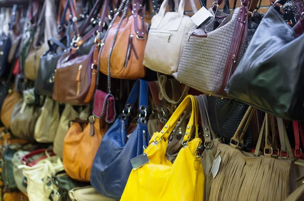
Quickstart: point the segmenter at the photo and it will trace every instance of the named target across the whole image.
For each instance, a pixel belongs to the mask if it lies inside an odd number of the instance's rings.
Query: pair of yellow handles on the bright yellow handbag
[[[193,129],[195,127],[195,135],[198,137],[198,102],[197,99],[192,96],[188,95],[186,98],[179,104],[179,106],[176,108],[175,112],[172,114],[172,116],[169,118],[168,122],[165,124],[164,128],[161,130],[161,132],[156,132],[153,137],[150,140],[150,143],[158,143],[163,138],[165,140],[168,139],[172,131],[174,130],[178,120],[180,119],[180,116],[183,114],[183,112],[186,110],[189,104],[192,104],[192,112],[189,119],[189,122],[186,127],[185,135],[183,137],[183,145],[186,145],[187,142],[191,138],[191,134],[193,132]]]

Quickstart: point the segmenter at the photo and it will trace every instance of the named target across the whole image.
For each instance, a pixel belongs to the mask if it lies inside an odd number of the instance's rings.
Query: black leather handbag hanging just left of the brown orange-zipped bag
[[[62,38],[61,41],[57,41],[54,38],[50,38],[48,41],[50,49],[40,58],[40,67],[35,80],[36,94],[49,97],[53,96],[53,77],[57,61],[67,50],[67,47],[61,43],[62,41],[67,41],[67,44],[70,43],[68,36]],[[60,53],[57,53],[58,48],[62,49]]]

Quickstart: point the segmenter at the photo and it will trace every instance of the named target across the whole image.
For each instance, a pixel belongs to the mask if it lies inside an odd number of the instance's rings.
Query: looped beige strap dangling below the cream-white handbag
[[[168,97],[167,92],[166,92],[166,83],[167,83],[167,75],[161,75],[159,72],[157,73],[158,76],[158,81],[159,81],[159,85],[161,88],[161,93],[160,93],[160,99],[162,100],[162,97],[166,99],[166,101],[168,101],[171,104],[178,104],[180,103],[184,97],[187,95],[188,90],[189,90],[189,86],[185,86],[185,89],[183,90],[181,97],[179,98],[178,101],[172,100]]]

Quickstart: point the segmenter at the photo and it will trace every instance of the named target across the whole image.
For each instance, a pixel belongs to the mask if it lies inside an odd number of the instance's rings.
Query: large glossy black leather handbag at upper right
[[[304,30],[296,37],[276,8],[280,10],[275,5],[262,19],[225,92],[275,116],[303,120],[304,97],[299,92],[303,85]],[[304,25],[304,20],[298,23]],[[281,77],[286,82],[278,82]]]

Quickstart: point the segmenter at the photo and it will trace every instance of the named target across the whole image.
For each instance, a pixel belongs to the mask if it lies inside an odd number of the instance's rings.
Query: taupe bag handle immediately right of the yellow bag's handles
[[[196,96],[199,101],[200,113],[201,113],[201,120],[202,120],[202,130],[204,132],[204,145],[207,147],[208,143],[211,142],[211,135],[216,138],[215,133],[213,132],[210,124],[209,118],[209,110],[208,110],[208,98],[206,95]],[[211,145],[212,146],[212,145]],[[211,148],[211,147],[210,147]]]

